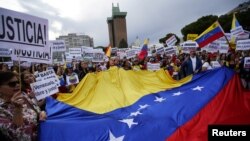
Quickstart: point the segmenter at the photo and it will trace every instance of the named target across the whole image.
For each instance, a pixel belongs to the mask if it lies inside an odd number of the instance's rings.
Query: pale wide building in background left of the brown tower
[[[88,35],[69,33],[68,35],[59,36],[56,40],[64,40],[66,48],[70,47],[94,47],[93,38]]]

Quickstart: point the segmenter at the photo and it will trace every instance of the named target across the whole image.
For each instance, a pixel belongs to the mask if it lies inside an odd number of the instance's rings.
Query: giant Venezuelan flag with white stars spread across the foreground
[[[181,81],[163,70],[89,74],[72,94],[47,99],[40,140],[204,141],[208,124],[250,124],[238,80],[224,67]]]

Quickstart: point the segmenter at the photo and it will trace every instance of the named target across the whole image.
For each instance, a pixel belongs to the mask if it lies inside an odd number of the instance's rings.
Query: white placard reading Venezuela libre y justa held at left
[[[54,78],[32,83],[30,84],[30,87],[32,91],[35,93],[37,100],[41,100],[47,96],[50,96],[59,92],[57,83],[54,81]]]

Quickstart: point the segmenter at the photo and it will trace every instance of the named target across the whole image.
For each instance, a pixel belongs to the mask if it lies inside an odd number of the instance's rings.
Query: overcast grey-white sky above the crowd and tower
[[[167,33],[182,37],[180,30],[206,15],[223,15],[248,0],[0,0],[0,7],[49,20],[49,39],[83,33],[95,46],[109,44],[107,17],[112,3],[127,12],[129,45],[136,36],[157,43]]]

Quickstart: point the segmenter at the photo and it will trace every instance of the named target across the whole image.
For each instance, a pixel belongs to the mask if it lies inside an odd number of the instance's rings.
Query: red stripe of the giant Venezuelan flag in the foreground
[[[250,124],[250,91],[243,90],[238,75],[167,141],[207,141],[211,124]]]

